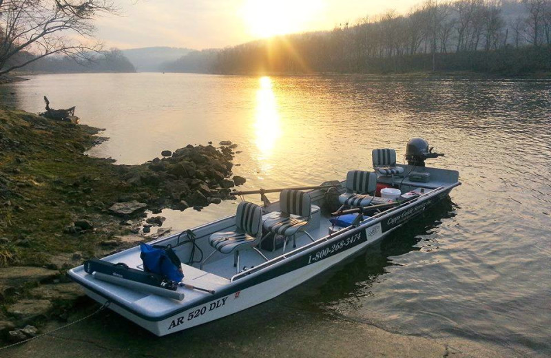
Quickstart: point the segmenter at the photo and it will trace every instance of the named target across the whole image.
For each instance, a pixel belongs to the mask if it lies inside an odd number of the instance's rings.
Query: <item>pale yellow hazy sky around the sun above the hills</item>
[[[103,17],[98,37],[108,47],[223,48],[262,36],[330,30],[338,23],[422,0],[115,0],[123,17]]]

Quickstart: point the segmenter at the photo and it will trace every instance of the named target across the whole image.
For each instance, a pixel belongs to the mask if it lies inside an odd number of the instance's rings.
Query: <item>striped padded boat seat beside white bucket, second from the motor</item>
[[[365,207],[377,189],[377,174],[373,171],[351,170],[346,173],[346,193],[339,196],[339,202],[351,207]]]

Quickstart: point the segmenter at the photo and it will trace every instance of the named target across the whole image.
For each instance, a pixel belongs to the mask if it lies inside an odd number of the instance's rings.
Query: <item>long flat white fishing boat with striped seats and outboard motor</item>
[[[92,299],[155,335],[205,324],[289,291],[446,198],[461,185],[459,172],[425,165],[442,155],[412,138],[408,164],[397,164],[393,149],[374,149],[373,170],[349,171],[346,179],[236,192],[260,193],[263,207],[243,201],[236,215],[149,242],[171,248],[183,262],[183,281],[171,289],[91,272],[87,265],[68,275]],[[265,194],[278,191],[280,201],[269,202]],[[140,246],[101,262],[145,271]]]

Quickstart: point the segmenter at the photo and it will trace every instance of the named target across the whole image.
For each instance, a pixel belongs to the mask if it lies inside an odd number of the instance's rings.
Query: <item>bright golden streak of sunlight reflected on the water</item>
[[[271,156],[275,142],[281,136],[280,114],[278,103],[272,89],[272,81],[268,76],[259,80],[260,89],[256,92],[256,147],[258,160],[262,162]],[[264,168],[265,169],[265,168]]]

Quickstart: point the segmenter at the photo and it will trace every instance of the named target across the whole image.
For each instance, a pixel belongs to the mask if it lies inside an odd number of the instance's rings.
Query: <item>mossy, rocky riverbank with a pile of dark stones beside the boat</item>
[[[66,320],[83,292],[65,271],[145,240],[165,221],[144,220],[146,210],[201,210],[233,199],[230,188],[245,183],[231,172],[237,145],[229,141],[116,165],[85,155],[105,140],[100,131],[0,110],[0,340]],[[136,240],[121,240],[129,234]]]

